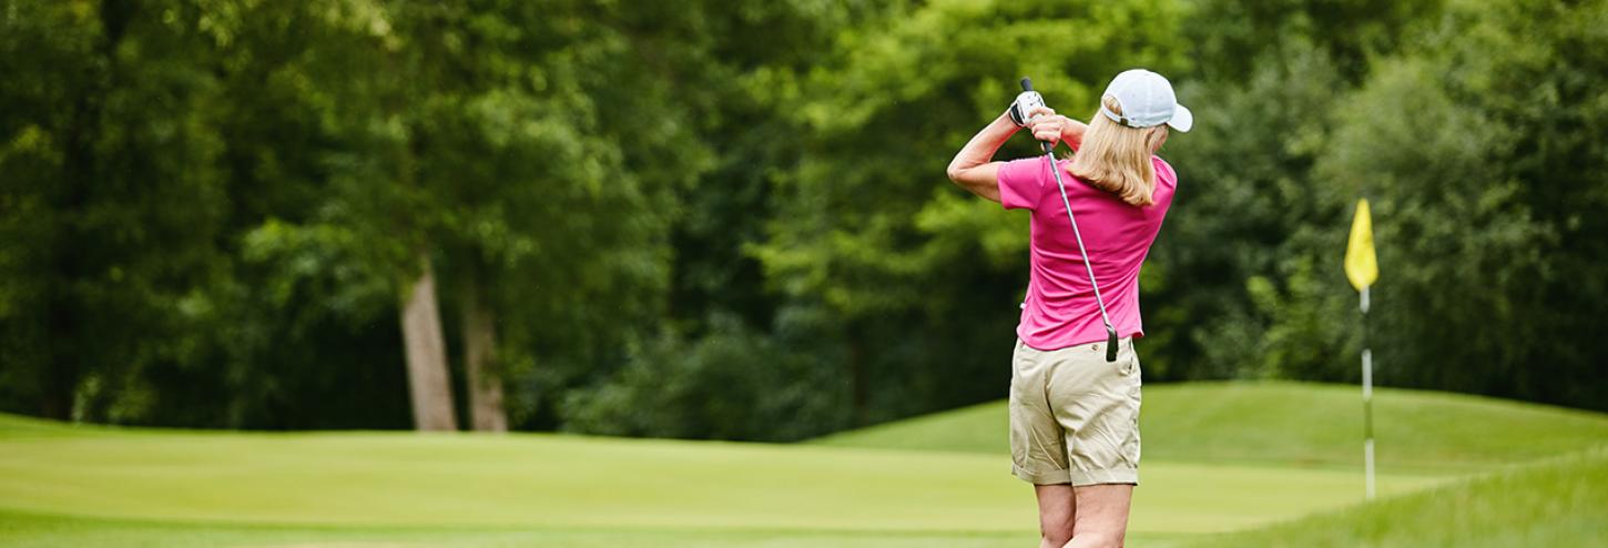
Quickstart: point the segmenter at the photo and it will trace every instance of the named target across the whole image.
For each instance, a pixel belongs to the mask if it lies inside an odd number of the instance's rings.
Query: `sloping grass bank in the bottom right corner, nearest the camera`
[[[1505,469],[1198,546],[1602,546],[1608,450]]]

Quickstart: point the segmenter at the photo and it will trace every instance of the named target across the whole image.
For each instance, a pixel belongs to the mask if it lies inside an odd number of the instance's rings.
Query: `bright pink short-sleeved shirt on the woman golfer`
[[[1071,161],[1056,162],[1118,337],[1145,336],[1138,318],[1138,268],[1145,264],[1150,244],[1156,241],[1179,183],[1172,166],[1161,157],[1153,162],[1156,202],[1145,207],[1130,206],[1116,194],[1073,177],[1066,170]],[[1032,211],[1028,301],[1023,302],[1016,336],[1039,350],[1105,341],[1100,309],[1095,305],[1077,241],[1073,239],[1073,225],[1066,220],[1055,175],[1050,174],[1050,161],[1039,156],[1007,162],[1000,167],[999,182],[1005,209]]]

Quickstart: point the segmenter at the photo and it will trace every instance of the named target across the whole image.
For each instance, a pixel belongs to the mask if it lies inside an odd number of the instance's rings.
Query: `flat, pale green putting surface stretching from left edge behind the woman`
[[[1031,490],[992,455],[576,436],[11,436],[0,509],[426,527],[1015,532]],[[1158,463],[1134,529],[1214,532],[1356,500],[1356,474]],[[1433,477],[1389,476],[1404,492]],[[1201,509],[1203,497],[1216,503]],[[912,503],[920,501],[920,503]]]

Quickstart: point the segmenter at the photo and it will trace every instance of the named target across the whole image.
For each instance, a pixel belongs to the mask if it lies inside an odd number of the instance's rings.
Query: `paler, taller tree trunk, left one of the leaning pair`
[[[441,336],[436,275],[420,254],[423,273],[402,305],[402,339],[407,344],[407,381],[413,395],[413,426],[420,431],[455,431],[452,378],[447,376],[447,342]]]

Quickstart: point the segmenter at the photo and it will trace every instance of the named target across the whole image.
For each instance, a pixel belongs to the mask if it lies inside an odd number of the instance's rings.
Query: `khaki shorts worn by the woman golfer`
[[[1138,357],[1122,339],[1037,350],[1016,341],[1010,452],[1016,477],[1037,485],[1138,485]]]

